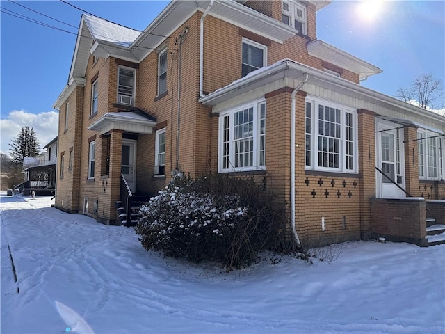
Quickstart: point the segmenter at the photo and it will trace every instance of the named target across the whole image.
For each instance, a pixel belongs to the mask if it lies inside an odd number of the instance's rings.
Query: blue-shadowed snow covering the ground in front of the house
[[[49,197],[0,200],[1,333],[445,333],[445,245],[350,242],[330,264],[225,273]]]

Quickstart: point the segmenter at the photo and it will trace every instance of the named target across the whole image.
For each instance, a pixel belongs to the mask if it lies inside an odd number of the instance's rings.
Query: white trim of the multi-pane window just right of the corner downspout
[[[329,100],[323,100],[318,97],[313,97],[307,95],[305,102],[312,103],[311,111],[311,164],[306,166],[305,170],[318,170],[324,172],[332,173],[348,173],[356,174],[359,171],[359,159],[358,159],[358,118],[357,111],[354,109],[338,104],[337,102],[332,102]],[[318,105],[329,106],[335,109],[339,109],[341,112],[341,136],[339,145],[339,168],[321,167],[318,166]],[[306,103],[305,103],[306,107]],[[346,113],[351,113],[353,115],[353,168],[346,169]],[[306,133],[306,132],[305,132]],[[306,155],[305,155],[306,157]],[[306,159],[305,159],[306,161]]]

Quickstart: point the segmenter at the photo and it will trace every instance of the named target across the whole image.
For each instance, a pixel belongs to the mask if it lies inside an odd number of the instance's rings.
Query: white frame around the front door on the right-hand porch
[[[398,128],[398,138],[396,136],[396,128]],[[376,118],[375,131],[375,166],[377,166],[380,170],[384,170],[384,168],[382,168],[382,162],[384,162],[382,161],[382,137],[391,137],[394,139],[394,141],[392,142],[393,145],[391,145],[388,149],[389,155],[394,154],[394,159],[391,157],[389,161],[385,162],[385,164],[391,168],[391,160],[394,160],[394,181],[405,189],[405,144],[403,143],[403,126],[394,122]],[[398,186],[391,182],[384,182],[385,180],[387,179],[382,175],[382,173],[375,170],[375,193],[377,198],[406,197],[405,192],[399,189]]]

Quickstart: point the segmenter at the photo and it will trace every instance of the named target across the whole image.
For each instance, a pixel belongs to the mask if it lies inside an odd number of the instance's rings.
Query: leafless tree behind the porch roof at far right
[[[415,100],[424,109],[440,109],[444,107],[444,82],[432,73],[421,74],[407,88],[399,87],[396,97],[405,102]]]

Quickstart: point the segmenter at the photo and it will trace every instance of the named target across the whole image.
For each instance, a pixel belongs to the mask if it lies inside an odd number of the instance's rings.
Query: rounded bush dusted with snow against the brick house
[[[140,209],[136,233],[147,250],[241,268],[261,250],[284,249],[286,208],[252,178],[175,179]]]

